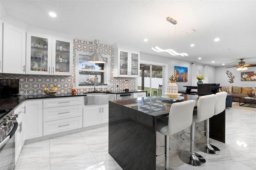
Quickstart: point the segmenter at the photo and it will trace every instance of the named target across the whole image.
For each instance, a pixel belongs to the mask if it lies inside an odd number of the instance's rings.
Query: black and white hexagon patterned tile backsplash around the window
[[[108,88],[103,88],[103,91],[119,91],[124,90],[125,80],[128,80],[129,88],[136,89],[136,78],[129,77],[113,77],[113,49],[110,45],[99,44],[98,47],[100,54],[110,55],[110,83]],[[20,79],[19,94],[44,94],[44,87],[53,88],[55,85],[58,88],[58,93],[70,93],[72,85],[75,82],[75,66],[76,66],[76,51],[94,52],[95,43],[86,42],[84,40],[74,40],[73,43],[73,75],[60,76],[60,75],[23,75],[23,74],[0,74],[0,79]],[[117,87],[118,86],[118,87]],[[89,92],[93,89],[77,89],[78,92]]]

